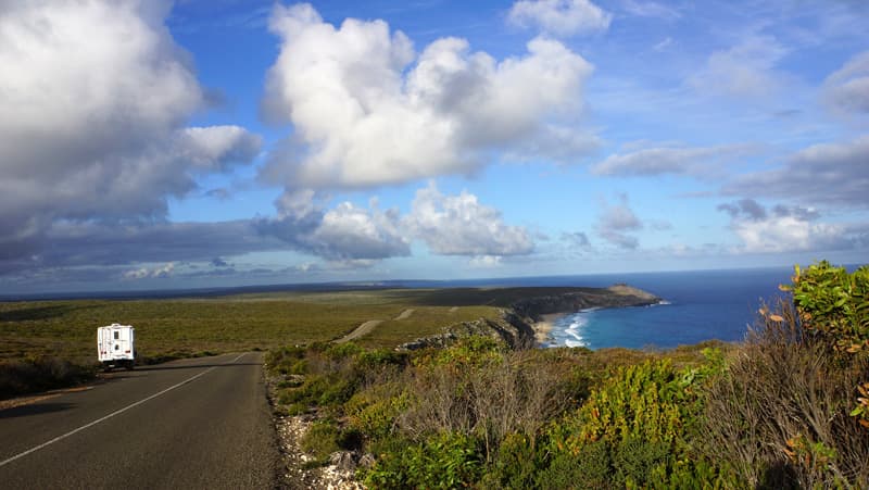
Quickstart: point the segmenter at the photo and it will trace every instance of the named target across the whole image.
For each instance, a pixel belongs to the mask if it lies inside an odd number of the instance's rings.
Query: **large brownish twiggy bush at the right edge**
[[[869,487],[869,438],[848,414],[869,363],[832,355],[785,299],[761,307],[757,327],[709,385],[706,453],[740,486]],[[818,322],[818,316],[813,316]]]

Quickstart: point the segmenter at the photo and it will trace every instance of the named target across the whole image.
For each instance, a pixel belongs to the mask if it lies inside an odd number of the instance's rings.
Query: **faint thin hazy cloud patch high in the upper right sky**
[[[788,50],[772,36],[750,36],[739,45],[711,53],[706,65],[689,77],[700,92],[735,98],[759,98],[774,93],[785,83],[776,70]]]

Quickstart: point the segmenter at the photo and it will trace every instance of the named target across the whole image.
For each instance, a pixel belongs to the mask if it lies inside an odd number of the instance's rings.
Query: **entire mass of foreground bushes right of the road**
[[[741,344],[276,350],[370,488],[869,488],[867,268],[797,269]],[[339,441],[341,441],[339,443]],[[325,461],[319,458],[318,461]]]

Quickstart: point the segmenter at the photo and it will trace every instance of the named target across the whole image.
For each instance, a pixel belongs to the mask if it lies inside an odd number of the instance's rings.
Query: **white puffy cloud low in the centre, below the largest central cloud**
[[[480,204],[476,196],[444,196],[433,184],[416,191],[405,223],[442,255],[521,255],[534,248],[527,230],[506,225],[498,210]]]

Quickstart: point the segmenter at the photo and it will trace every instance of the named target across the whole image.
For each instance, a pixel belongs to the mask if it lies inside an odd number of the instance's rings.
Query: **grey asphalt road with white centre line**
[[[118,370],[0,411],[0,488],[270,489],[262,354]]]

